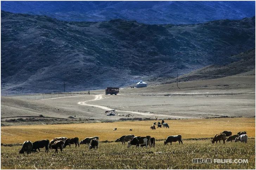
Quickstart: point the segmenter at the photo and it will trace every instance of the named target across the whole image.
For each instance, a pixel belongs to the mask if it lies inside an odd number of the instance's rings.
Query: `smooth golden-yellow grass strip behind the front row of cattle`
[[[158,120],[159,121],[159,120]],[[182,135],[183,139],[208,138],[230,130],[233,134],[246,131],[249,137],[255,137],[255,118],[216,118],[165,120],[169,129],[150,126],[157,121],[119,121],[110,123],[79,123],[58,125],[26,125],[1,127],[1,143],[23,143],[26,140],[36,141],[54,137],[78,137],[79,140],[90,136],[99,136],[100,141],[114,141],[122,135],[150,135],[155,139],[166,139],[169,135]],[[113,131],[117,128],[116,131]],[[129,131],[133,129],[133,131]]]

